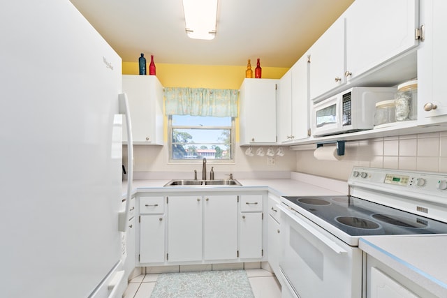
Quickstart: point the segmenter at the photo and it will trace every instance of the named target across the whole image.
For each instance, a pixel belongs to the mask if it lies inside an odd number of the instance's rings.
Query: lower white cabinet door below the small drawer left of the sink
[[[164,215],[140,216],[140,263],[164,262]]]

